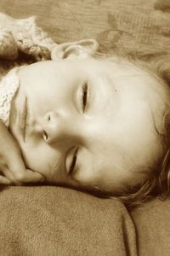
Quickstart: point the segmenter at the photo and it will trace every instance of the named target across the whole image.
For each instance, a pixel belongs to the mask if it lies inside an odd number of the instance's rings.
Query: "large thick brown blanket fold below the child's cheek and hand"
[[[0,212],[0,255],[137,255],[133,221],[116,199],[8,187],[0,193]]]

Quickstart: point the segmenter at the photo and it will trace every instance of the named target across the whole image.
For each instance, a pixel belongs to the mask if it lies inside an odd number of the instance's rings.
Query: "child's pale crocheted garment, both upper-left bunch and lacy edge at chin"
[[[11,101],[19,88],[17,66],[20,53],[35,61],[50,59],[57,44],[36,24],[36,17],[13,19],[0,13],[0,119],[8,126]],[[14,69],[13,69],[14,68]],[[10,71],[11,70],[11,71]]]

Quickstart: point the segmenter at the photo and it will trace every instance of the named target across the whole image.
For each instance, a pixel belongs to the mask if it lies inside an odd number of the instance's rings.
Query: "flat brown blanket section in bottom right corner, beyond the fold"
[[[169,255],[170,200],[154,199],[133,210],[131,216],[136,226],[139,255]]]

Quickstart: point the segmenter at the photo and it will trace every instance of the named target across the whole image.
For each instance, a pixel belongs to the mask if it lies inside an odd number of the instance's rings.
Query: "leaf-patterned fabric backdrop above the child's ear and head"
[[[1,0],[14,18],[37,15],[58,43],[95,38],[100,48],[170,50],[169,0]]]

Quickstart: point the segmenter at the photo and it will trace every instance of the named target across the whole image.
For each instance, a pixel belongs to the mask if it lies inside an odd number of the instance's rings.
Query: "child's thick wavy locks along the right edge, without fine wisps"
[[[170,55],[150,56],[146,66],[170,87]],[[149,177],[139,183],[136,188],[129,191],[127,195],[119,195],[122,201],[130,207],[141,204],[155,196],[165,200],[170,195],[170,109],[167,109],[163,121],[164,133],[160,134],[165,148],[163,159],[150,172]]]

